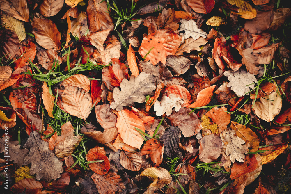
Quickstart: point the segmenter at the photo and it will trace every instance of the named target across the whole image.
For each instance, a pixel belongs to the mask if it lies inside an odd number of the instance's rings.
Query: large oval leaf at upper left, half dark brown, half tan
[[[61,33],[51,20],[34,17],[32,32],[35,35],[36,42],[45,49],[55,51],[61,49]]]

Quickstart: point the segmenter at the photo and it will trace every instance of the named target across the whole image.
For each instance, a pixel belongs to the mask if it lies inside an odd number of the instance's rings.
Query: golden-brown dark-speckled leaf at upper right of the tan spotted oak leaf
[[[250,128],[231,121],[230,128],[236,131],[236,136],[242,138],[246,142],[246,146],[251,152],[255,152],[259,149],[260,140],[258,136]]]

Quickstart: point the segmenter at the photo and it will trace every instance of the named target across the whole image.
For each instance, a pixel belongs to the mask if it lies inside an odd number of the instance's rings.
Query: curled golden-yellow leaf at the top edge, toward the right
[[[238,7],[237,12],[232,11],[231,13],[240,15],[244,19],[253,19],[257,16],[257,11],[249,3],[243,0],[227,0],[228,3],[236,5]]]

